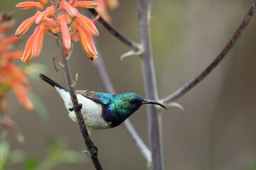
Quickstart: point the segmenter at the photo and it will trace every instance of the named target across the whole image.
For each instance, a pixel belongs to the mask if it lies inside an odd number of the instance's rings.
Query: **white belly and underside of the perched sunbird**
[[[63,98],[65,103],[65,108],[68,110],[68,116],[74,121],[77,122],[77,118],[75,116],[75,111],[69,111],[69,108],[73,107],[71,102],[70,94],[63,89],[57,89],[60,96]],[[91,101],[88,98],[78,94],[78,103],[82,103],[82,117],[85,120],[85,125],[87,130],[90,132],[92,130],[97,129],[107,129],[110,128],[110,125],[105,122],[104,118],[102,117],[102,107],[100,104]]]

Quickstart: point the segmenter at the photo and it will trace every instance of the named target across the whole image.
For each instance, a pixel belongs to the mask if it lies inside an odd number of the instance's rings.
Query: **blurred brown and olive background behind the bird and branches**
[[[20,1],[0,1],[0,11],[13,11],[16,27],[33,15],[35,9],[21,11]],[[120,0],[119,8],[110,11],[112,24],[124,35],[139,42],[137,1]],[[160,98],[171,94],[196,77],[223,49],[242,22],[252,0],[162,0],[154,1],[151,16],[151,42]],[[139,57],[119,57],[130,50],[117,38],[96,24],[99,51],[117,93],[134,92],[144,96]],[[255,169],[256,163],[256,16],[228,56],[198,86],[177,100],[185,111],[169,108],[163,113],[164,165],[166,169]],[[31,28],[17,49],[25,47]],[[43,52],[32,63],[46,65],[44,72],[65,86],[63,72],[53,68],[58,54],[55,39],[46,35]],[[23,64],[23,63],[21,63]],[[75,43],[70,59],[73,76],[78,73],[76,89],[105,91],[93,62]],[[9,114],[18,123],[26,142],[20,144],[9,132],[11,149],[23,149],[39,159],[46,157],[45,137],[67,137],[68,149],[85,149],[78,125],[68,118],[58,94],[40,79],[31,79],[33,93],[46,106],[49,117],[36,111],[24,111],[14,94],[9,95]],[[146,107],[130,118],[148,144]],[[123,125],[111,130],[92,132],[104,169],[146,169],[146,161]],[[85,156],[86,157],[86,156]],[[86,159],[86,158],[85,158]],[[23,169],[22,164],[14,169]],[[89,159],[82,164],[60,164],[54,169],[94,169]]]

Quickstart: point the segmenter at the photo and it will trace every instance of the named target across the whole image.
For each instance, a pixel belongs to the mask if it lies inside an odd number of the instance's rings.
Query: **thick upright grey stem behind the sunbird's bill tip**
[[[158,91],[156,86],[156,75],[154,71],[154,61],[151,51],[151,40],[149,32],[149,16],[151,9],[151,0],[138,0],[139,13],[139,39],[145,51],[142,55],[142,74],[146,98],[158,100]],[[151,169],[164,169],[164,158],[162,154],[161,132],[156,107],[148,105],[147,107],[149,121],[149,145],[152,154]]]

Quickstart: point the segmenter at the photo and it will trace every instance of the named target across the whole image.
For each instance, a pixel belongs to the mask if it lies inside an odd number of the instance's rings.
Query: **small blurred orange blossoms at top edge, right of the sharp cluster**
[[[102,16],[107,22],[111,22],[110,14],[107,12],[107,8],[110,8],[110,10],[113,10],[114,8],[117,8],[119,6],[118,0],[93,0],[97,2],[98,6],[96,11],[100,13],[100,16]]]

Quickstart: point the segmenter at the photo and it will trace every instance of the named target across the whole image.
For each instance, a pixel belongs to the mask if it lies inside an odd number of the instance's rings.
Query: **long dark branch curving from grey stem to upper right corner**
[[[242,31],[245,30],[248,23],[250,23],[251,18],[253,16],[253,14],[255,13],[255,6],[256,6],[256,0],[253,1],[250,11],[247,13],[247,16],[245,16],[244,21],[242,21],[242,24],[240,25],[238,30],[235,32],[235,35],[233,35],[233,38],[231,38],[231,40],[228,42],[228,45],[225,46],[225,48],[222,50],[222,52],[220,52],[220,54],[215,58],[215,60],[213,60],[213,62],[210,63],[210,65],[208,65],[208,67],[206,67],[206,69],[204,69],[203,72],[198,74],[198,76],[196,78],[192,79],[190,82],[188,82],[184,86],[181,86],[181,88],[174,91],[173,94],[170,94],[166,98],[161,99],[162,102],[169,103],[169,102],[174,101],[175,99],[183,96],[183,94],[186,94],[186,92],[188,92],[190,89],[192,89],[194,86],[196,86],[200,81],[202,81],[206,76],[208,76],[208,74],[210,74],[210,72],[212,72],[213,69],[215,69],[215,67],[228,54],[230,49],[233,47],[235,42],[238,40],[238,38],[242,34]]]

